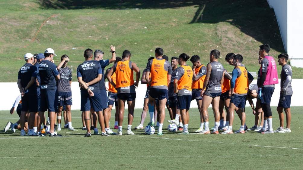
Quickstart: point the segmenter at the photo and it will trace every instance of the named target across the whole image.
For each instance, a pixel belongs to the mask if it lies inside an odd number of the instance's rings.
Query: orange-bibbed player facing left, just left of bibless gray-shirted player
[[[198,111],[200,113],[200,127],[195,132],[201,132],[204,130],[203,129],[204,122],[203,122],[202,113],[201,113],[201,107],[202,107],[201,91],[202,91],[204,79],[206,76],[206,67],[201,63],[200,57],[197,55],[192,56],[190,61],[192,63],[192,70],[193,70],[191,100],[197,101]]]

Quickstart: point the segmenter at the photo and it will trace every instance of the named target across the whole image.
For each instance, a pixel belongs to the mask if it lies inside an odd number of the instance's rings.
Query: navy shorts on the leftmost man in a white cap
[[[36,95],[25,94],[22,98],[22,111],[38,112],[38,98]]]

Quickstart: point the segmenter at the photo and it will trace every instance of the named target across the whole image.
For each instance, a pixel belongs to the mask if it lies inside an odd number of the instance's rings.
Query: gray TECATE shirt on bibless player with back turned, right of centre
[[[205,91],[208,93],[221,93],[221,79],[223,76],[224,67],[221,63],[216,61],[213,61],[210,64],[211,74]]]

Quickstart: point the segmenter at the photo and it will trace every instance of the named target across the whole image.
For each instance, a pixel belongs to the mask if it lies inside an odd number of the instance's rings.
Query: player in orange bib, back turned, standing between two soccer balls
[[[163,135],[162,127],[165,119],[165,104],[168,99],[168,86],[171,81],[171,65],[163,59],[163,49],[155,49],[155,59],[149,60],[146,66],[146,75],[151,74],[151,81],[145,76],[147,84],[150,86],[148,97],[148,110],[150,122],[148,125],[154,126],[154,101],[159,100],[159,129],[158,135]]]

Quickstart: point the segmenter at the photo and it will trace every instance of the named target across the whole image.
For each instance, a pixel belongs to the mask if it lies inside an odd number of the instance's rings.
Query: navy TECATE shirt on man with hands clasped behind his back
[[[77,68],[77,78],[82,77],[85,83],[92,81],[98,77],[98,74],[102,74],[102,68],[99,62],[94,60],[88,60],[80,64]],[[103,76],[102,76],[103,77]],[[99,82],[88,86],[93,92],[100,92]],[[83,89],[82,89],[83,90]]]

